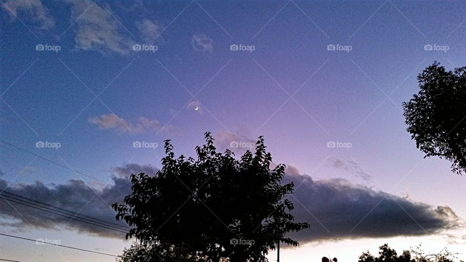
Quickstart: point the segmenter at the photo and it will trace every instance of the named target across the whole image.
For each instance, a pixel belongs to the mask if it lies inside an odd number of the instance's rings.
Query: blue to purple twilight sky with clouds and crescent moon
[[[131,173],[160,168],[164,140],[194,156],[211,131],[241,154],[264,135],[311,224],[283,261],[356,261],[384,243],[466,253],[466,180],[423,159],[401,108],[433,61],[466,65],[466,2],[0,4],[0,191],[114,222],[108,204]],[[108,254],[130,245],[5,200],[0,225]],[[0,259],[114,261],[7,236]]]

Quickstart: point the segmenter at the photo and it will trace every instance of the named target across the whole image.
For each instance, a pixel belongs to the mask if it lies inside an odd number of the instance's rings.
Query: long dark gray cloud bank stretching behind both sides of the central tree
[[[34,184],[9,185],[0,179],[0,188],[33,198],[67,210],[82,211],[105,221],[116,222],[115,212],[109,207],[122,202],[131,193],[129,175],[145,172],[155,175],[157,168],[151,165],[126,164],[113,170],[111,185],[96,191],[80,180],[67,184],[46,186]],[[462,220],[448,206],[433,207],[410,199],[374,191],[351,184],[347,180],[312,180],[300,174],[294,167],[287,167],[283,182],[295,183],[294,203],[296,221],[308,222],[310,229],[293,233],[301,243],[328,239],[414,236],[439,233],[462,225]],[[12,207],[15,207],[13,208]],[[15,203],[0,200],[0,225],[27,229],[60,229],[69,219]],[[121,225],[124,225],[121,223]],[[108,229],[69,221],[66,229],[104,237],[123,237]]]

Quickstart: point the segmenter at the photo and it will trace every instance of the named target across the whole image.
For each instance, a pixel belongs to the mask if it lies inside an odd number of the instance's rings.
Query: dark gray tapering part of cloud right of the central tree
[[[463,222],[448,206],[432,207],[347,180],[312,180],[287,168],[283,182],[293,181],[296,221],[310,229],[294,233],[302,242],[325,239],[415,236],[459,227]]]

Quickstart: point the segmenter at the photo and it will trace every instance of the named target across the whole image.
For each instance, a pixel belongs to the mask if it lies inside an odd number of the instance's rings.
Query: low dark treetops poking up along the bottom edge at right
[[[379,246],[379,256],[374,257],[369,251],[363,252],[359,256],[358,262],[453,262],[454,253],[449,252],[447,249],[442,250],[438,254],[424,254],[420,249],[420,245],[416,249],[410,251],[404,250],[401,255],[397,255],[395,249],[384,244]]]

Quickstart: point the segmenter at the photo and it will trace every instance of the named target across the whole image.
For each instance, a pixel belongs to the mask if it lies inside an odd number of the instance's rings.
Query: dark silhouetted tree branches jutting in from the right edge
[[[425,157],[452,162],[452,171],[466,170],[466,66],[446,71],[434,62],[417,76],[419,93],[403,103],[407,131]]]

